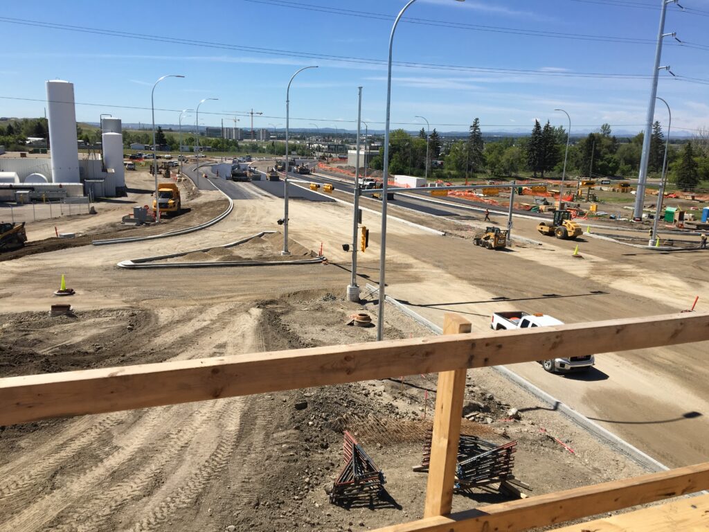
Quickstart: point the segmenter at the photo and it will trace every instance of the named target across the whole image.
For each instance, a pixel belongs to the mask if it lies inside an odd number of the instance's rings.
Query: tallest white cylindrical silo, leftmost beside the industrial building
[[[49,140],[52,153],[52,182],[79,183],[77,115],[74,84],[52,79],[47,82]]]

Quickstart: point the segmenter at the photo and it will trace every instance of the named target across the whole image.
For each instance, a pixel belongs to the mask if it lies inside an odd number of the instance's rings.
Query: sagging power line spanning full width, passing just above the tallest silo
[[[155,35],[145,35],[140,33],[129,33],[123,31],[106,30],[102,28],[88,28],[85,26],[70,26],[67,24],[57,24],[57,23],[47,23],[42,21],[31,21],[27,19],[19,18],[9,18],[0,17],[0,22],[19,24],[23,26],[35,26],[40,28],[50,28],[57,29],[61,31],[73,31],[79,33],[94,33],[99,35],[108,35],[111,37],[119,38],[132,38],[138,40],[150,40],[163,43],[171,44],[182,44],[202,48],[220,48],[225,50],[238,50],[242,52],[252,52],[264,55],[278,55],[286,57],[298,57],[301,59],[314,59],[314,60],[328,60],[333,62],[346,62],[355,64],[365,64],[365,65],[375,65],[375,66],[385,66],[385,60],[372,59],[366,57],[350,57],[343,55],[329,55],[320,54],[315,52],[293,52],[291,50],[279,50],[276,48],[259,48],[252,46],[242,46],[242,45],[230,45],[225,43],[215,43],[210,41],[202,40],[189,40],[189,39],[179,39],[179,38],[169,38],[169,37],[158,37]],[[709,47],[708,47],[709,48]],[[463,66],[463,65],[445,65],[436,63],[423,63],[423,62],[408,62],[408,61],[394,61],[393,65],[398,67],[416,68],[423,70],[444,70],[451,72],[475,72],[475,73],[485,73],[485,74],[519,74],[519,75],[532,75],[532,76],[545,76],[545,77],[594,77],[599,79],[649,79],[650,76],[647,74],[623,74],[623,73],[608,73],[608,72],[566,72],[566,71],[548,71],[548,70],[526,70],[526,69],[513,69],[513,68],[492,68],[492,67],[473,67],[473,66]],[[676,80],[700,83],[707,82],[709,79],[688,79],[683,76],[676,76]]]

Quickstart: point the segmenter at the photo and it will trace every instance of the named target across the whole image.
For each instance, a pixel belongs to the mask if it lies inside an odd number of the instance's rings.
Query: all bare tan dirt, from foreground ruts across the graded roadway
[[[216,197],[202,192],[194,201]],[[389,221],[387,293],[439,325],[447,311],[469,318],[476,332],[489,331],[491,313],[500,310],[542,311],[569,323],[646,316],[687,309],[696,295],[697,310],[706,308],[705,252],[655,254],[584,235],[577,242],[584,258],[576,259],[575,243],[541,237],[525,218],[515,218],[513,246],[493,252],[471,245],[484,225],[479,213],[414,215],[394,204],[393,216],[456,228],[444,237]],[[374,329],[344,325],[354,311],[376,313],[364,285],[378,280],[380,218],[369,211],[364,223],[372,233],[358,267],[364,307],[342,300],[351,265],[342,243],[352,228],[351,206],[343,204],[291,201],[289,235],[306,250],[323,245],[328,265],[116,267],[130,257],[217,248],[277,231],[282,209],[279,199],[235,200],[230,216],[198,233],[0,262],[0,377],[372,340]],[[77,290],[69,301],[76,317],[49,318],[62,273]],[[385,322],[386,338],[430,334],[393,308]],[[677,466],[709,452],[705,353],[700,343],[599,354],[588,378],[547,374],[535,362],[513,370]],[[467,428],[519,441],[515,473],[532,494],[640,472],[496,372],[470,377],[467,409],[485,415]],[[421,418],[430,414],[435,377],[407,378],[403,391],[400,376],[391,378],[6,427],[0,531],[339,531],[415,519],[425,475],[411,467],[421,459]],[[307,406],[296,409],[301,401]],[[510,408],[520,420],[508,420]],[[329,504],[325,487],[342,465],[344,428],[384,470],[395,502],[377,509]],[[499,500],[482,492],[474,499],[456,496],[454,509]]]

